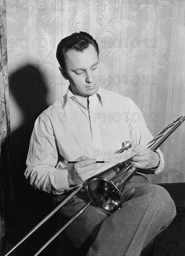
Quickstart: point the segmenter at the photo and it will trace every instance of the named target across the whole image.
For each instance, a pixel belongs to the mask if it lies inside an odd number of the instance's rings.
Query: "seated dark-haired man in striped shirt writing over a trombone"
[[[145,149],[132,158],[140,173],[128,182],[124,198],[129,200],[121,209],[107,215],[89,206],[66,230],[87,256],[139,256],[176,215],[167,191],[147,182],[147,174],[164,168],[163,155],[144,146],[153,136],[134,102],[101,88],[96,40],[84,32],[64,38],[57,47],[57,60],[70,86],[35,122],[26,178],[35,188],[61,194],[94,175],[96,161],[110,159],[123,141],[131,141],[132,149]],[[82,190],[61,213],[70,218],[88,201]]]

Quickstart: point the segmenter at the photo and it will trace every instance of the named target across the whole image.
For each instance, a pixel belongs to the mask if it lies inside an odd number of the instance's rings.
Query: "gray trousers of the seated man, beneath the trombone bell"
[[[70,242],[86,249],[87,256],[140,256],[142,249],[176,216],[175,204],[166,189],[148,183],[144,176],[134,175],[123,197],[126,202],[111,215],[89,206],[66,229]],[[84,190],[60,211],[70,218],[87,202]]]

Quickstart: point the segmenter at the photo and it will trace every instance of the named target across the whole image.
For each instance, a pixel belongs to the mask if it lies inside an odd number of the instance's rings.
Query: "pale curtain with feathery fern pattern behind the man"
[[[153,135],[184,114],[185,1],[12,0],[6,11],[9,74],[27,64],[37,67],[48,105],[68,85],[58,70],[57,44],[85,31],[100,47],[102,87],[134,100]],[[21,115],[13,98],[10,105],[13,117]],[[22,122],[13,118],[11,129]],[[152,182],[185,182],[184,129],[182,124],[161,145],[165,170]]]

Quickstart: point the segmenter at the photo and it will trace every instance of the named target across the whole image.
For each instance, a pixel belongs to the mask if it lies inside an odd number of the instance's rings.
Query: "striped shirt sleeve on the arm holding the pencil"
[[[32,131],[25,176],[27,181],[42,191],[61,194],[68,186],[69,169],[58,164],[58,148],[49,117],[43,112],[35,121]]]

